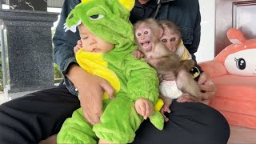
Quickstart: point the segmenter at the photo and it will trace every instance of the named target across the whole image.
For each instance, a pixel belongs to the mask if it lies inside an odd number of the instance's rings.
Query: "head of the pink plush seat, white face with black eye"
[[[246,39],[238,29],[227,31],[231,44],[219,53],[214,61],[224,63],[232,75],[256,76],[256,38]]]

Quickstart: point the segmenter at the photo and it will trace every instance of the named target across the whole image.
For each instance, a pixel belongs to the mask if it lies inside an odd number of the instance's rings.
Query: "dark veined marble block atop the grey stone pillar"
[[[9,0],[10,10],[47,11],[47,0]]]

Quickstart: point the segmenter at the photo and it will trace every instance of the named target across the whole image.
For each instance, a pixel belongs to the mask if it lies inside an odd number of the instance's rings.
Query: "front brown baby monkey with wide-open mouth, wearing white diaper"
[[[190,94],[194,97],[194,101],[201,100],[202,94],[198,88],[198,84],[188,72],[194,66],[194,61],[181,60],[177,54],[168,50],[162,42],[160,42],[159,39],[162,38],[163,30],[159,23],[153,18],[137,22],[134,25],[134,32],[138,50],[145,55],[146,62],[154,67],[154,69],[158,71],[158,74],[169,76],[169,79],[164,79],[163,82],[173,82],[177,90],[182,91],[182,93],[176,95],[165,95],[161,93],[161,98],[165,103],[161,113],[166,121],[168,121],[168,118],[166,118],[164,113],[170,112],[169,107],[173,98],[182,98],[186,97],[186,94]],[[170,47],[171,49],[177,49],[177,44],[172,46],[174,47]]]

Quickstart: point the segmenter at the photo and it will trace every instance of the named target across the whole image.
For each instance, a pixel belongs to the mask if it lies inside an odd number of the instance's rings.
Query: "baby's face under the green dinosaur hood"
[[[78,26],[82,47],[86,52],[108,53],[114,49],[114,45],[109,42],[102,41],[101,38],[94,35],[83,24]]]

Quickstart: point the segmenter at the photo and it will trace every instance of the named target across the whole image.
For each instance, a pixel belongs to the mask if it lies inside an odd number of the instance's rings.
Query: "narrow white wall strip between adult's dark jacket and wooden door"
[[[198,62],[214,58],[215,0],[199,0],[201,12],[201,41],[195,54]]]

